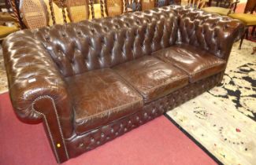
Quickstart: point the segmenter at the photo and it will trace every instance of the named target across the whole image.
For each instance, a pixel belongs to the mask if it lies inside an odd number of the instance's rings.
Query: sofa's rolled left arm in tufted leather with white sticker
[[[69,94],[44,46],[32,31],[25,30],[6,38],[2,49],[9,95],[17,116],[25,123],[39,123],[44,116],[54,113],[61,127],[65,127],[63,134],[69,137],[72,134]]]

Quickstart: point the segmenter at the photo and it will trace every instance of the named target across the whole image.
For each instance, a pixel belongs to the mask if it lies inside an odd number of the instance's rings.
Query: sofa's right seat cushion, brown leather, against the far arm
[[[224,71],[226,64],[221,58],[187,44],[161,49],[152,55],[187,72],[191,83]]]

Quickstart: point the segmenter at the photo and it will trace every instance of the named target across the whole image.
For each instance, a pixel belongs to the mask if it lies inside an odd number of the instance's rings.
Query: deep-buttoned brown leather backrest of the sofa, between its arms
[[[176,42],[177,17],[169,7],[35,31],[62,75],[71,76],[150,55]]]

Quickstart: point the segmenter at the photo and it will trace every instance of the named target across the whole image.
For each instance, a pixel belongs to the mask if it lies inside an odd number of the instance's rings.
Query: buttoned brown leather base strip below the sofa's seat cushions
[[[83,152],[97,148],[144,123],[161,116],[163,113],[176,108],[199,94],[210,90],[218,83],[221,83],[223,75],[224,72],[221,72],[217,75],[201,79],[198,82],[191,83],[168,96],[159,98],[157,101],[151,101],[145,105],[141,111],[135,112],[131,116],[126,116],[123,119],[109,123],[106,126],[91,130],[86,134],[76,135],[73,138],[66,140],[65,143],[69,151],[69,158],[79,156]]]

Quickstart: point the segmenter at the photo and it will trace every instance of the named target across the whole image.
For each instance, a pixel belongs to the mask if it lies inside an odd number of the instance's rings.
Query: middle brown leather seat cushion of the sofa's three
[[[143,95],[145,103],[188,83],[188,76],[179,68],[150,56],[117,65],[113,69]]]

